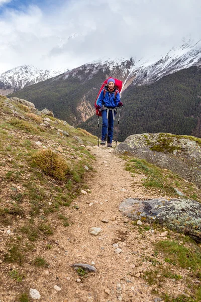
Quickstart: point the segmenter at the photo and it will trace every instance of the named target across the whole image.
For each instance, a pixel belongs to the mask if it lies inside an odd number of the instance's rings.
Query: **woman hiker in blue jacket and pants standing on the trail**
[[[115,86],[114,79],[109,79],[108,85],[104,89],[99,94],[97,100],[98,106],[96,107],[102,112],[103,117],[102,140],[100,144],[105,145],[107,140],[108,147],[112,147],[114,119],[117,113],[116,107],[122,107],[123,104],[120,101],[119,90]]]

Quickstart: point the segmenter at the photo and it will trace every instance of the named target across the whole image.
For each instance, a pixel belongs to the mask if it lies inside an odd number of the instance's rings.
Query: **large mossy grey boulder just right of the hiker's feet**
[[[170,133],[134,134],[115,149],[177,173],[201,188],[201,139]]]

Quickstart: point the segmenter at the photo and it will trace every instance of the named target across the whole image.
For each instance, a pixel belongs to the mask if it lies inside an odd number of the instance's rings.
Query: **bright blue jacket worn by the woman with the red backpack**
[[[106,95],[104,97],[104,89],[102,92],[100,92],[96,104],[102,107],[105,105],[108,108],[115,108],[119,105],[120,102],[120,94],[119,92],[116,95],[115,99],[115,91],[114,92],[109,92],[107,88],[106,89]]]

